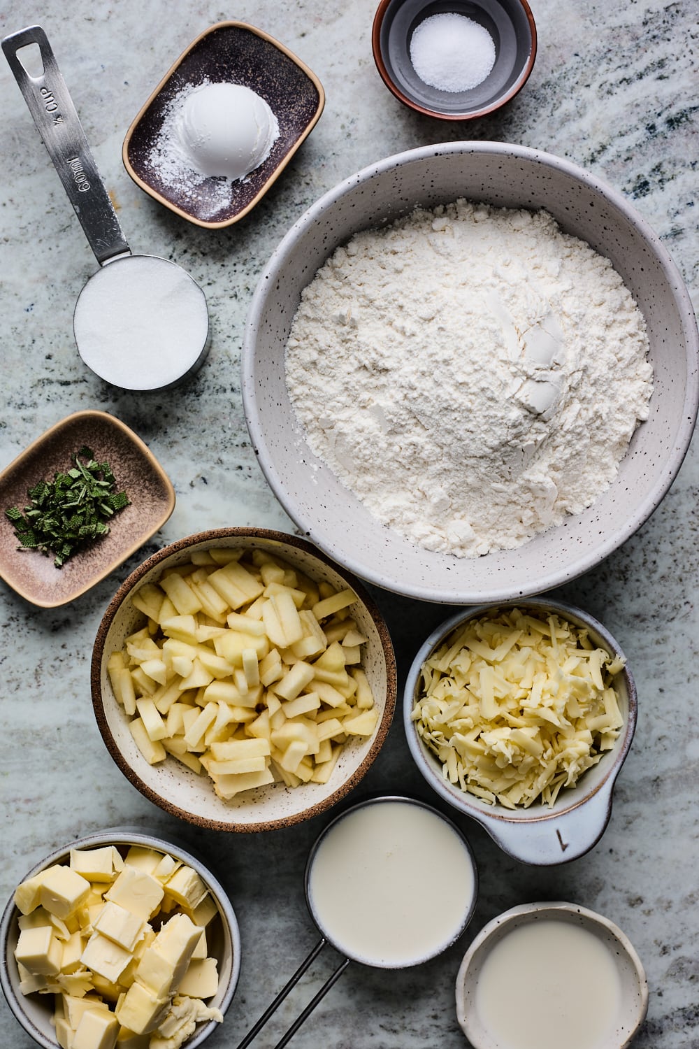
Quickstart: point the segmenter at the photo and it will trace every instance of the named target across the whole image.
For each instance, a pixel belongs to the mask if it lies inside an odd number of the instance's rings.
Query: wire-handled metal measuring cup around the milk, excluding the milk
[[[471,872],[469,883],[468,884],[464,884],[464,906],[463,906],[463,909],[462,909],[462,912],[460,914],[459,921],[456,924],[454,924],[454,926],[451,928],[450,935],[446,936],[446,937],[444,937],[438,945],[432,946],[430,949],[428,949],[424,952],[418,952],[417,956],[414,955],[410,959],[406,960],[402,963],[396,962],[395,960],[394,960],[393,963],[381,962],[381,961],[378,961],[376,959],[374,959],[373,961],[369,961],[368,958],[367,958],[367,956],[366,955],[363,956],[358,950],[353,950],[353,951],[348,950],[347,949],[347,944],[346,943],[342,943],[337,939],[336,930],[333,930],[332,928],[330,928],[328,926],[327,920],[324,921],[323,918],[321,917],[321,915],[319,914],[319,909],[315,906],[315,903],[313,901],[313,894],[312,894],[312,880],[313,880],[314,863],[315,863],[316,858],[319,856],[319,851],[320,851],[321,847],[328,839],[328,836],[331,835],[332,831],[337,827],[338,823],[341,823],[344,819],[350,817],[353,813],[356,813],[356,812],[358,812],[361,810],[364,810],[364,809],[368,808],[369,806],[383,805],[383,804],[386,804],[386,802],[389,802],[389,804],[391,804],[391,802],[397,802],[399,805],[415,806],[416,808],[421,809],[421,810],[423,810],[425,812],[429,812],[432,815],[434,815],[434,816],[438,817],[439,819],[441,819],[447,826],[447,828],[457,836],[457,838],[460,841],[460,844],[463,847],[464,854],[465,854],[465,857],[467,858],[467,864],[469,866],[469,872]],[[440,857],[438,855],[432,854],[430,856],[430,860],[431,860],[432,866],[434,868],[436,876],[438,876],[438,872],[439,872],[439,868],[440,868]],[[415,798],[403,797],[403,796],[400,796],[400,795],[380,795],[380,796],[377,796],[377,797],[370,798],[367,801],[362,801],[358,805],[352,806],[350,809],[347,809],[345,812],[343,812],[338,816],[336,816],[325,828],[325,830],[316,838],[316,840],[315,840],[315,842],[314,842],[314,844],[313,844],[313,847],[312,847],[312,849],[311,849],[311,851],[309,853],[308,860],[307,860],[307,863],[306,863],[306,873],[305,873],[305,882],[304,882],[304,885],[305,885],[305,894],[306,894],[306,905],[307,905],[308,911],[309,911],[311,917],[313,918],[316,926],[319,927],[319,929],[321,932],[321,939],[315,944],[315,946],[313,947],[313,949],[308,954],[308,956],[304,959],[304,961],[301,963],[301,965],[296,970],[296,972],[290,978],[290,980],[280,990],[279,994],[274,1000],[274,1002],[268,1006],[267,1009],[265,1009],[265,1011],[262,1013],[262,1015],[257,1021],[257,1023],[250,1028],[250,1030],[247,1032],[247,1034],[242,1040],[242,1042],[239,1043],[239,1045],[237,1046],[237,1049],[246,1049],[246,1047],[255,1040],[255,1037],[259,1034],[259,1032],[265,1026],[265,1024],[267,1023],[267,1021],[277,1011],[277,1009],[282,1004],[282,1002],[284,1001],[284,999],[289,994],[289,992],[292,990],[292,988],[296,987],[296,985],[298,984],[298,982],[301,979],[301,977],[303,976],[303,973],[311,965],[311,963],[314,961],[314,959],[320,955],[320,952],[322,951],[323,947],[325,947],[326,944],[330,944],[330,946],[334,947],[335,950],[337,950],[340,954],[344,955],[345,958],[344,958],[343,962],[334,970],[334,972],[332,972],[332,975],[326,980],[326,982],[323,984],[323,986],[321,987],[321,989],[311,999],[311,1001],[304,1008],[304,1010],[294,1020],[294,1022],[291,1024],[291,1026],[285,1031],[285,1033],[282,1035],[282,1037],[280,1039],[280,1041],[276,1044],[275,1049],[282,1049],[283,1046],[287,1045],[287,1043],[296,1034],[296,1032],[299,1030],[299,1028],[302,1026],[302,1024],[308,1019],[308,1016],[313,1011],[313,1009],[319,1004],[319,1002],[325,997],[325,994],[330,990],[330,988],[336,983],[336,981],[343,975],[343,972],[348,967],[348,965],[350,964],[350,962],[356,962],[356,963],[358,963],[361,965],[369,965],[372,968],[397,969],[397,968],[408,968],[408,967],[413,966],[413,965],[420,965],[420,964],[422,964],[422,962],[427,962],[431,958],[435,958],[435,957],[437,957],[437,955],[442,954],[444,950],[446,950],[449,947],[451,947],[452,944],[454,944],[456,942],[456,940],[458,940],[458,938],[464,932],[464,929],[466,928],[468,922],[471,921],[471,919],[473,917],[474,909],[476,907],[476,900],[477,900],[477,896],[478,896],[478,872],[477,872],[477,869],[476,869],[476,862],[475,862],[473,853],[471,851],[471,845],[468,844],[466,838],[463,836],[463,834],[461,833],[461,831],[452,822],[452,820],[449,819],[449,817],[446,817],[446,816],[443,815],[443,813],[439,812],[437,809],[433,808],[432,806],[427,805],[424,801],[419,801],[419,800],[416,800]],[[370,886],[370,889],[371,889],[371,886]]]

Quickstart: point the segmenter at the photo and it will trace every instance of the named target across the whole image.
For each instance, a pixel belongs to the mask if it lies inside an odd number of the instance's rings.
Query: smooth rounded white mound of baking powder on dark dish
[[[202,84],[175,120],[182,159],[200,175],[245,178],[279,137],[279,122],[264,99],[242,84]]]

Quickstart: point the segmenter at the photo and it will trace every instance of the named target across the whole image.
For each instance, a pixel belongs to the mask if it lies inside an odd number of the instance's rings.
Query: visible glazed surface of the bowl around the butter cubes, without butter
[[[132,844],[157,849],[168,853],[173,859],[181,860],[193,868],[202,879],[218,908],[218,917],[213,919],[206,929],[206,945],[210,954],[218,961],[219,975],[218,990],[214,998],[207,1001],[207,1004],[225,1013],[235,994],[240,976],[238,920],[231,900],[215,875],[198,857],[192,855],[175,840],[150,834],[136,827],[115,827],[96,831],[93,834],[75,838],[60,849],[54,849],[40,863],[19,877],[18,884],[53,863],[67,863],[70,859],[71,849],[103,849],[112,844],[124,850]],[[43,1046],[43,1049],[59,1049],[56,1028],[51,1023],[53,996],[23,994],[19,988],[20,980],[14,954],[19,937],[19,915],[20,913],[10,898],[0,923],[0,985],[7,1005],[27,1034],[38,1045]],[[199,1024],[194,1034],[184,1043],[185,1049],[197,1049],[197,1046],[200,1046],[219,1026],[221,1025],[214,1020]]]

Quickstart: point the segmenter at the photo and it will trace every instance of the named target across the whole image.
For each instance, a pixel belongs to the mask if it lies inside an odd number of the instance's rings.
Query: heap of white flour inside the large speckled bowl
[[[509,550],[590,506],[639,420],[643,318],[546,212],[416,210],[304,291],[286,382],[309,445],[428,550]]]

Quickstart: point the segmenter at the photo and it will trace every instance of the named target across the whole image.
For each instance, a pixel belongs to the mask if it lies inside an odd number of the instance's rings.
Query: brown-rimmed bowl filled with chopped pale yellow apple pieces
[[[119,587],[92,656],[119,769],[167,812],[224,831],[307,819],[365,775],[395,707],[369,593],[282,532],[197,533]]]

